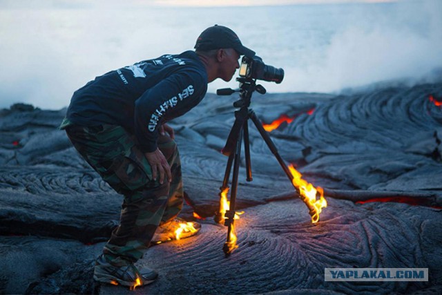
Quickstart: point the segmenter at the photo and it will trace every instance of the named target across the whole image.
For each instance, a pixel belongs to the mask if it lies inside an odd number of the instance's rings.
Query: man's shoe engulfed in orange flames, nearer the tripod
[[[169,242],[171,240],[189,238],[190,236],[195,236],[200,229],[201,225],[199,222],[187,222],[186,220],[177,217],[158,227],[153,235],[151,243],[160,244],[162,242]]]

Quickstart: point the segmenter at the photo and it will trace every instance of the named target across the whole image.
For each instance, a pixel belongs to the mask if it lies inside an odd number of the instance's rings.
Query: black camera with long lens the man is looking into
[[[273,66],[264,64],[262,59],[258,56],[244,56],[242,57],[240,66],[240,77],[280,84],[282,79],[284,79],[284,70],[282,70],[282,68],[274,68]]]

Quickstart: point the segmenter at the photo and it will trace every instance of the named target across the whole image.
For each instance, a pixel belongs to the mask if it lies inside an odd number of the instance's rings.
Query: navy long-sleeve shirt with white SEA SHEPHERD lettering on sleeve
[[[66,117],[80,126],[123,126],[135,134],[142,151],[152,152],[158,127],[199,104],[206,91],[204,64],[189,50],[96,77],[75,91]]]

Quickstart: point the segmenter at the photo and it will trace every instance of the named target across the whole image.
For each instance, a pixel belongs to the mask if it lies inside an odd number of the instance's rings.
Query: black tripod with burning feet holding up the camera
[[[222,149],[222,153],[224,155],[229,156],[229,160],[227,160],[226,172],[224,173],[224,181],[222,182],[222,187],[220,187],[221,193],[225,189],[229,188],[229,178],[233,164],[233,178],[231,183],[232,187],[230,191],[231,193],[230,208],[229,211],[225,213],[225,220],[224,220],[224,225],[229,227],[227,231],[227,242],[224,243],[224,247],[222,248],[226,256],[231,254],[231,251],[233,251],[234,249],[231,247],[231,231],[234,222],[233,218],[235,217],[236,191],[238,188],[238,171],[240,169],[242,141],[244,141],[247,181],[252,181],[250,146],[249,146],[249,125],[248,125],[249,119],[251,119],[253,124],[255,124],[256,129],[258,129],[262,139],[265,141],[267,146],[269,146],[269,149],[273,153],[273,155],[275,155],[276,160],[278,160],[279,164],[281,165],[282,169],[284,170],[289,180],[292,182],[292,180],[294,179],[293,175],[291,175],[289,168],[287,167],[284,160],[282,160],[281,156],[279,155],[275,144],[273,144],[273,142],[271,141],[269,133],[267,133],[264,127],[262,127],[262,124],[258,119],[258,117],[256,116],[255,112],[251,108],[249,108],[251,103],[251,95],[253,94],[253,92],[258,91],[258,93],[260,94],[265,94],[266,93],[265,88],[259,84],[256,85],[256,79],[247,79],[240,77],[237,78],[236,80],[240,82],[240,89],[239,89],[240,99],[234,102],[233,106],[240,109],[235,111],[235,122],[233,123],[231,131],[229,133],[229,137],[227,138],[226,145]],[[219,89],[217,91],[217,94],[231,95],[234,92],[236,91],[234,91],[231,88],[224,88],[224,89]],[[295,189],[299,193],[298,188],[295,187]],[[307,204],[307,207],[309,208],[310,215],[313,216],[314,207],[309,205],[307,202],[305,202],[305,204]],[[215,216],[215,220],[218,222],[222,222],[222,220],[220,220],[220,216]]]

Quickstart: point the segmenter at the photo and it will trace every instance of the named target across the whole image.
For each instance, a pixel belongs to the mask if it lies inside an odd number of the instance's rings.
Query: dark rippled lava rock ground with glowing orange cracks
[[[145,294],[438,294],[442,292],[442,84],[347,95],[253,97],[282,158],[325,188],[307,207],[250,125],[253,182],[240,168],[239,248],[222,251],[213,221],[236,95],[207,95],[173,122],[188,204],[205,218],[193,238],[151,247],[140,264],[160,273]],[[124,294],[93,283],[93,259],[117,224],[121,196],[79,158],[57,126],[61,111],[0,111],[0,293]],[[374,202],[376,201],[376,202]],[[325,267],[423,267],[428,282],[325,282]],[[131,292],[132,293],[132,292]]]

